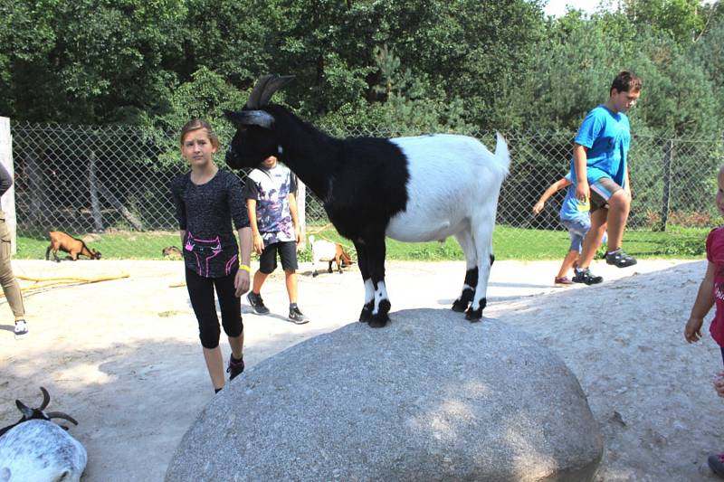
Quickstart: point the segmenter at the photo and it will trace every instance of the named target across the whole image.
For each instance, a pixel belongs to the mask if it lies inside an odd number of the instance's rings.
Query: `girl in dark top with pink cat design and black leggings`
[[[214,288],[224,333],[232,349],[226,372],[229,380],[233,380],[244,368],[241,296],[249,290],[252,253],[252,231],[242,185],[236,175],[220,171],[214,164],[218,148],[218,137],[205,120],[186,123],[181,129],[181,155],[191,165],[191,172],[177,175],[171,184],[181,230],[186,287],[198,321],[206,368],[216,392],[224,388],[224,360],[219,347],[221,330]],[[241,259],[232,221],[239,232]]]

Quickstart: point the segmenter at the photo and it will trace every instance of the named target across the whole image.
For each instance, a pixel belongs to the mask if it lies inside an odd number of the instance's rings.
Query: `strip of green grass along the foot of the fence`
[[[313,228],[312,228],[313,230]],[[625,250],[637,258],[701,259],[709,228],[677,228],[667,232],[627,231]],[[334,230],[315,232],[317,238],[341,242],[354,250],[351,241]],[[106,232],[100,241],[89,242],[100,250],[104,260],[162,260],[161,250],[180,246],[177,232]],[[568,250],[566,231],[544,231],[497,226],[493,235],[496,260],[558,260]],[[40,260],[45,256],[45,238],[18,237],[16,259]],[[309,250],[300,251],[301,261],[310,260]],[[449,238],[439,242],[401,242],[387,240],[389,260],[462,260],[457,241]]]

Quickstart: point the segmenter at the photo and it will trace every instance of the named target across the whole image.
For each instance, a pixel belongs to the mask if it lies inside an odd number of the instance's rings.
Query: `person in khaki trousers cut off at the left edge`
[[[0,197],[3,196],[13,185],[13,178],[7,172],[5,166],[0,164]],[[13,265],[10,249],[10,232],[7,231],[5,223],[5,212],[0,209],[0,284],[3,285],[3,293],[7,299],[10,309],[15,316],[15,339],[23,338],[28,334],[28,324],[25,322],[25,307],[23,305],[23,294],[20,292],[20,285],[13,274]]]

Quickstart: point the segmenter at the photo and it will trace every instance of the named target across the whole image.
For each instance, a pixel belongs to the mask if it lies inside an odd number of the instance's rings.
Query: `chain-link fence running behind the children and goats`
[[[176,132],[12,123],[12,135],[18,236],[44,240],[52,230],[76,236],[90,232],[177,232],[168,185],[187,167],[178,154]],[[472,135],[494,149],[494,133]],[[505,135],[512,165],[500,194],[498,225],[563,232],[557,219],[563,194],[554,196],[536,217],[531,209],[548,185],[567,173],[574,133]],[[634,199],[629,229],[658,231],[672,224],[711,225],[716,215],[712,202],[716,172],[724,164],[721,138],[678,139],[634,133],[629,159]],[[240,173],[240,177],[245,174]],[[319,199],[309,190],[305,213],[308,226],[328,223]],[[515,232],[510,230],[510,235]],[[138,236],[129,238],[129,243],[135,242]]]

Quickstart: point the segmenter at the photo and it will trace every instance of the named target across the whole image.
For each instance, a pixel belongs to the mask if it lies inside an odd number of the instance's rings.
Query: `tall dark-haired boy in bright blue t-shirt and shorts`
[[[616,75],[609,98],[588,112],[574,139],[571,180],[576,199],[591,204],[591,230],[586,235],[575,281],[600,283],[589,269],[598,246],[601,228],[608,225],[608,251],[605,261],[618,268],[636,264],[621,249],[624,228],[631,209],[627,156],[631,128],[625,113],[639,99],[643,82],[628,71]]]

